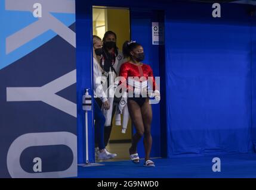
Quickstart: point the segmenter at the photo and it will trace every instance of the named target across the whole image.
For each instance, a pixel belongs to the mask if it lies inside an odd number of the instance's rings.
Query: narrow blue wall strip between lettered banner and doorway
[[[78,163],[85,163],[85,114],[82,110],[82,96],[85,88],[92,94],[92,7],[76,1],[76,91],[78,105]],[[93,103],[93,101],[92,101]],[[93,115],[88,112],[89,162],[94,162]]]

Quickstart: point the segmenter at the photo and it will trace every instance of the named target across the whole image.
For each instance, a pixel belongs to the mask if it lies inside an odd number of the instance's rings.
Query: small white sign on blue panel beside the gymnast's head
[[[164,45],[164,24],[152,23],[152,44]]]

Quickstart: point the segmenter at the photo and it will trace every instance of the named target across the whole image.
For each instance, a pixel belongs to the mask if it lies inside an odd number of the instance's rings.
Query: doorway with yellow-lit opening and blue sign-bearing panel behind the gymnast
[[[103,39],[106,31],[116,33],[116,44],[122,50],[126,40],[135,40],[144,47],[146,52],[145,64],[152,67],[155,77],[161,77],[161,102],[152,105],[152,153],[151,157],[165,157],[166,145],[166,105],[165,105],[165,44],[164,32],[156,34],[156,27],[164,31],[165,12],[161,10],[143,8],[92,7],[92,31]],[[114,116],[115,118],[115,116]],[[129,119],[127,132],[122,134],[122,127],[112,121],[112,132],[107,149],[118,156],[110,160],[96,160],[96,162],[129,160],[128,149],[134,127]],[[144,157],[143,139],[138,144],[138,153]]]

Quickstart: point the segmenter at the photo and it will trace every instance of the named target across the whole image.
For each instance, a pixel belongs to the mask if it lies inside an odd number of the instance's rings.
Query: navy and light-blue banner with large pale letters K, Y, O
[[[0,178],[77,176],[75,1],[41,1],[48,22],[17,3],[0,2]]]

